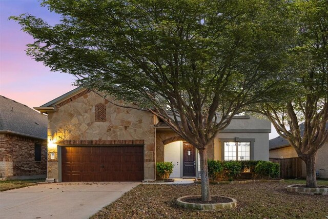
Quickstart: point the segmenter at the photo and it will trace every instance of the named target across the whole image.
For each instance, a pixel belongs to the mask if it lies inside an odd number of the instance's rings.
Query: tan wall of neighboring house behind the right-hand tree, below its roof
[[[298,157],[295,149],[292,146],[270,150],[272,158],[290,158]],[[316,154],[316,169],[319,172],[320,178],[328,178],[328,142],[320,148]],[[305,163],[302,163],[302,176],[306,176]]]

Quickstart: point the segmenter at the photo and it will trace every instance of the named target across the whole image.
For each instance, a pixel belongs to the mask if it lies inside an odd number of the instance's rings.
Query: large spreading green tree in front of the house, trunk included
[[[277,84],[289,30],[279,4],[44,0],[63,15],[60,24],[29,14],[12,19],[34,37],[27,54],[36,61],[76,75],[77,85],[135,103],[195,146],[202,200],[210,201],[208,145]]]

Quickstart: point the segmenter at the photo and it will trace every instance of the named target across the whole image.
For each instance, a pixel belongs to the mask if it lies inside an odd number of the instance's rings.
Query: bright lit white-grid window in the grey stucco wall
[[[251,142],[224,142],[224,161],[249,161]]]

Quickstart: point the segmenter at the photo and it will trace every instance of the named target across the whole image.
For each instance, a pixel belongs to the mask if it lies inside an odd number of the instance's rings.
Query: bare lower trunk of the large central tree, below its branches
[[[211,201],[209,171],[207,166],[207,149],[198,150],[200,158],[201,200]]]

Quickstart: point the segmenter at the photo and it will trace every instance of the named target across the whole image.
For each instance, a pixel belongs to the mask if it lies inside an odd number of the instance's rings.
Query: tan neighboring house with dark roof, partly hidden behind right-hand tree
[[[303,124],[300,125],[303,134]],[[328,124],[326,126],[328,128]],[[270,158],[292,158],[298,157],[295,149],[285,138],[278,136],[269,141]],[[302,161],[301,176],[306,177],[305,162]],[[316,173],[319,178],[328,178],[328,141],[318,150],[316,154]]]

